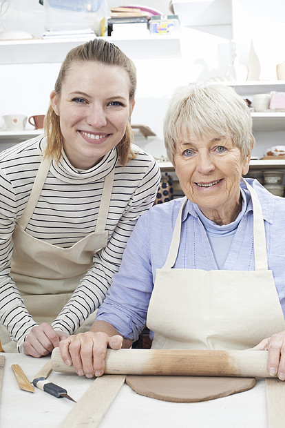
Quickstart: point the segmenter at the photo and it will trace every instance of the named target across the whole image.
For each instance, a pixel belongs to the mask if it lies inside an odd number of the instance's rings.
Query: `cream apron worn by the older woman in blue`
[[[185,197],[149,302],[152,349],[247,349],[285,329],[268,271],[262,208],[254,189],[246,186],[253,201],[255,271],[171,269],[180,245]]]

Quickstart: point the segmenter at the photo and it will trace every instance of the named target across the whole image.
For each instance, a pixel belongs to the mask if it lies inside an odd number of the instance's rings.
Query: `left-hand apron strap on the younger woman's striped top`
[[[25,228],[27,227],[28,222],[32,217],[32,213],[34,213],[34,208],[39,200],[39,195],[41,195],[41,189],[43,188],[43,184],[45,184],[45,179],[47,177],[48,171],[50,171],[51,163],[51,158],[43,157],[43,159],[41,160],[41,164],[34,179],[34,184],[32,186],[32,191],[30,193],[29,200],[18,222],[18,226],[21,227],[21,229],[23,230],[25,230]]]

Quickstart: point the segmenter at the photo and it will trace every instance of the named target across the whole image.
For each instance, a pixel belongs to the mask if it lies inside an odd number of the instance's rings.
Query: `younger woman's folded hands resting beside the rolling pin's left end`
[[[43,322],[43,324],[32,327],[23,343],[23,352],[27,356],[41,358],[51,353],[52,349],[59,347],[59,342],[68,337],[67,333],[55,331],[50,324]]]

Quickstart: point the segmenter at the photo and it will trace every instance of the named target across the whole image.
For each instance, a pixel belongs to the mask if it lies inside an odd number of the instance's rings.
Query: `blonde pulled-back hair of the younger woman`
[[[70,50],[63,61],[59,76],[56,79],[54,90],[56,95],[61,96],[61,88],[68,70],[74,62],[87,62],[95,61],[109,66],[118,66],[126,70],[129,81],[129,100],[133,101],[136,93],[136,67],[133,61],[129,59],[117,46],[109,43],[103,39],[94,39],[87,41],[81,46],[77,46]],[[61,158],[61,150],[63,145],[63,135],[61,133],[61,126],[59,116],[54,113],[52,105],[50,104],[44,121],[45,135],[47,136],[47,147],[45,149],[45,156],[55,157],[59,162]],[[134,159],[136,155],[131,150],[131,143],[134,140],[134,133],[131,125],[127,122],[125,135],[117,145],[118,157],[120,164],[125,166],[129,159]]]

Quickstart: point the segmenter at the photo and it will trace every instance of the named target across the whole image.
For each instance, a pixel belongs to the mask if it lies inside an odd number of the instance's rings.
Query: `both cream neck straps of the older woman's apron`
[[[255,271],[263,271],[268,269],[267,261],[267,252],[266,252],[266,237],[265,237],[265,228],[264,220],[262,215],[262,207],[260,201],[258,200],[257,193],[253,187],[246,182],[242,177],[242,182],[246,184],[246,187],[251,194],[251,200],[253,202],[253,246],[255,254]],[[181,224],[182,224],[182,211],[187,202],[187,197],[185,196],[182,200],[180,211],[178,213],[176,224],[174,226],[173,235],[171,239],[171,244],[169,247],[169,253],[167,260],[162,266],[162,269],[171,269],[176,262],[178,255],[178,250],[180,246],[180,234],[181,234]]]

